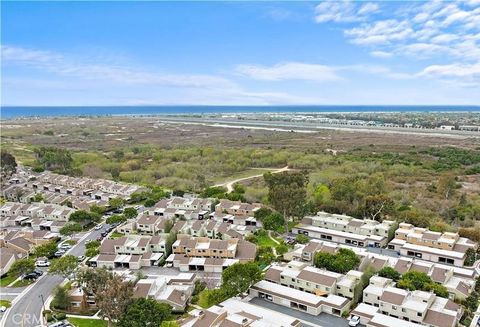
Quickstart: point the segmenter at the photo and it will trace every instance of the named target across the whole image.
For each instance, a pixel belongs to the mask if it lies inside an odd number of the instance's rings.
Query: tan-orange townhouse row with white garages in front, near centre
[[[237,238],[218,240],[178,235],[167,262],[181,271],[222,272],[234,263],[255,260],[256,252],[255,244]]]

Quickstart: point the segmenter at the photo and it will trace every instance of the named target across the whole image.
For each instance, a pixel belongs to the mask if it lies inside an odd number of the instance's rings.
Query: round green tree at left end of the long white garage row
[[[262,279],[262,271],[254,262],[236,263],[222,273],[222,288],[229,296],[245,292]]]

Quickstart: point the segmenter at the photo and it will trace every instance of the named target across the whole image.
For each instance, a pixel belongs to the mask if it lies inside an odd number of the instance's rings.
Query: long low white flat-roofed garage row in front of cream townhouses
[[[348,311],[351,304],[349,299],[342,296],[334,294],[317,296],[266,280],[253,285],[249,289],[249,294],[314,316],[322,312],[341,316]]]

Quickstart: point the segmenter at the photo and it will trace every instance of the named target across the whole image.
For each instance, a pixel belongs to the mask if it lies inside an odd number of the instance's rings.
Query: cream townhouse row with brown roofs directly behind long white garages
[[[268,268],[265,280],[317,296],[335,294],[352,299],[361,276],[362,272],[356,270],[343,275],[309,266],[305,262],[290,261]]]

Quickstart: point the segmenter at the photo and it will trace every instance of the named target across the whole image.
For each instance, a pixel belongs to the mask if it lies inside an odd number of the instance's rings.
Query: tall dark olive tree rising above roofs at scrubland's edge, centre
[[[268,186],[268,201],[275,210],[283,213],[288,233],[288,218],[303,216],[308,177],[303,172],[282,172],[266,173],[263,178]]]

